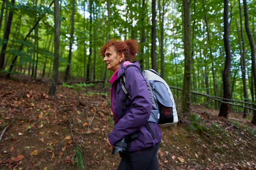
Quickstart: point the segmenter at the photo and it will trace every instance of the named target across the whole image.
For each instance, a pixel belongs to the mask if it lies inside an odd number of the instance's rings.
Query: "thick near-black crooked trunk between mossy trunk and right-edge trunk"
[[[230,41],[229,41],[229,23],[228,23],[228,0],[224,0],[224,46],[226,52],[226,61],[224,72],[222,74],[223,79],[223,98],[231,99],[230,93],[230,67],[231,67],[231,51],[230,51]],[[225,100],[223,100],[225,102]],[[229,105],[226,103],[221,103],[221,108],[218,116],[227,118],[229,112]]]

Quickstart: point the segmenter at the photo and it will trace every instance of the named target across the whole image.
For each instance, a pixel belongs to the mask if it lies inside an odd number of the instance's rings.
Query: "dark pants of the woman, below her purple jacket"
[[[120,153],[122,159],[117,170],[158,170],[157,150],[159,145],[160,142],[147,149]]]

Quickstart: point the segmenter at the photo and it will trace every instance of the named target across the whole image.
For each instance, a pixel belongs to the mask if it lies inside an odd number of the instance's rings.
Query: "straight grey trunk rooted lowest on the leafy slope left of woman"
[[[58,82],[58,67],[60,54],[60,21],[58,0],[54,0],[54,59],[53,59],[53,74],[51,77],[51,85],[49,95],[56,96],[56,87]]]

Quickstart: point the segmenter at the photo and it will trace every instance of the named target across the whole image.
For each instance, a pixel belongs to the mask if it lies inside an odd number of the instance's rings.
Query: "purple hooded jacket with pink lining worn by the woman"
[[[160,127],[156,123],[148,122],[151,130],[156,135],[153,139],[151,133],[145,126],[150,116],[152,103],[148,93],[148,88],[140,71],[139,62],[134,62],[124,66],[122,62],[117,79],[113,82],[111,88],[111,108],[116,118],[116,126],[108,136],[110,144],[113,146],[117,141],[125,136],[131,135],[138,131],[139,138],[131,142],[130,152],[142,150],[154,146],[160,142],[162,133]],[[136,67],[132,66],[135,65]],[[126,99],[126,108],[122,109],[121,98],[125,93],[120,90],[120,78],[125,73],[125,88],[131,99]]]

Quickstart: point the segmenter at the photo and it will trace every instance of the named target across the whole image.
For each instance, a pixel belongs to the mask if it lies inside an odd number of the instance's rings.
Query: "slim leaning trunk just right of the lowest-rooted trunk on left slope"
[[[67,64],[67,68],[65,71],[65,77],[63,80],[64,82],[67,82],[70,75],[70,66],[71,66],[71,60],[72,60],[72,45],[74,42],[74,16],[75,16],[75,0],[72,1],[70,44],[69,44],[69,53],[68,53],[68,60],[67,60],[67,62],[69,63]]]

